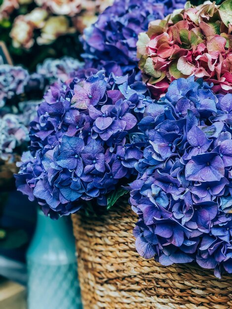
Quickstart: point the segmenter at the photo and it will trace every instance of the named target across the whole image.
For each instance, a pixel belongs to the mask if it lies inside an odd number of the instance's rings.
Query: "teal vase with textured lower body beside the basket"
[[[28,309],[81,309],[72,225],[38,211],[27,252]]]

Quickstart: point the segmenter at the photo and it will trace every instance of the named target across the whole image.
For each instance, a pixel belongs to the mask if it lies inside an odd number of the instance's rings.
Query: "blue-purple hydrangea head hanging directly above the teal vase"
[[[93,198],[107,205],[107,194],[126,185],[143,155],[136,132],[152,102],[146,85],[133,76],[90,72],[52,85],[31,122],[30,152],[16,185],[29,199],[36,196],[46,214],[75,212],[80,200]]]

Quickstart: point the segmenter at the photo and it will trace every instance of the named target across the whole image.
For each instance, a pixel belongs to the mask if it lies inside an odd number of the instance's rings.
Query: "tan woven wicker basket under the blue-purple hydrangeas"
[[[135,250],[129,206],[72,216],[84,309],[232,309],[232,276],[196,265],[164,267]]]

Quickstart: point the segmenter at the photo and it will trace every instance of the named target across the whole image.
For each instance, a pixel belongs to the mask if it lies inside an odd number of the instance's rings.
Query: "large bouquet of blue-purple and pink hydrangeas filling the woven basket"
[[[60,80],[15,177],[53,218],[111,207],[130,183],[139,254],[220,277],[232,273],[232,1],[183,2],[116,0],[84,31],[84,68],[38,67],[35,80]]]

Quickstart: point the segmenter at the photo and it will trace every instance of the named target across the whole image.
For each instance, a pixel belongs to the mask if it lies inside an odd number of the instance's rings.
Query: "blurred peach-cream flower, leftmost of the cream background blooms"
[[[10,37],[14,47],[24,47],[29,49],[34,44],[33,39],[34,26],[32,23],[25,20],[24,15],[15,18]]]

